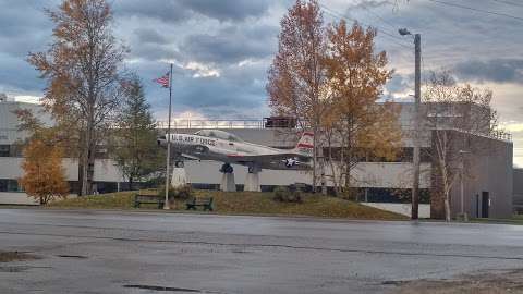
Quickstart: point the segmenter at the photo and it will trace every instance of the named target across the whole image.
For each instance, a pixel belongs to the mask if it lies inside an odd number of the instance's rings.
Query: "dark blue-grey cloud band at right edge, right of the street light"
[[[523,83],[523,59],[470,60],[454,66],[462,79]]]

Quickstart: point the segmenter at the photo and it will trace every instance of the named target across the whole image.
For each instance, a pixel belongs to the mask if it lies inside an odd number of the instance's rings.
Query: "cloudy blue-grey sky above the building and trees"
[[[44,83],[25,58],[51,42],[45,8],[59,0],[0,0],[0,93],[35,101]],[[151,79],[174,63],[177,117],[260,119],[279,22],[292,0],[111,0],[114,32],[131,48],[125,66],[145,82],[158,119],[168,93]],[[346,17],[378,28],[377,46],[396,70],[386,94],[413,93],[413,45],[397,29],[422,34],[423,70],[450,69],[488,87],[523,167],[523,2],[521,0],[319,0],[325,21]],[[445,3],[450,3],[445,4]],[[469,8],[469,9],[467,9]],[[488,11],[491,13],[485,13]],[[511,17],[514,16],[514,17]],[[406,98],[405,98],[406,97]]]

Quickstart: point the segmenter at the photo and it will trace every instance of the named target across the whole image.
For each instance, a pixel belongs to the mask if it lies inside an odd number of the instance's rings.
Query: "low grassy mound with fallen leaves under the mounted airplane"
[[[95,208],[95,209],[135,209],[136,192],[120,192],[96,196],[85,196],[54,201],[51,208]],[[272,200],[272,193],[195,191],[196,196],[214,197],[215,213],[220,215],[278,215],[309,216],[323,218],[405,220],[406,217],[363,206],[341,198],[306,194],[303,203],[289,204]],[[144,209],[155,208],[142,206]],[[185,211],[185,201],[175,201],[174,211]]]

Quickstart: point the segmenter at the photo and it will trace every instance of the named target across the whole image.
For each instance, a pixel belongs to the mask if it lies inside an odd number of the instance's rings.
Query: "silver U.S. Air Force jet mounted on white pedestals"
[[[308,170],[313,157],[313,133],[304,132],[293,149],[279,149],[244,142],[236,135],[220,130],[202,130],[194,134],[170,134],[171,147],[177,152],[178,168],[183,167],[180,158],[215,160],[224,164],[221,172],[232,173],[231,164],[248,167],[248,172],[260,169]],[[167,136],[158,138],[158,145],[167,146]]]

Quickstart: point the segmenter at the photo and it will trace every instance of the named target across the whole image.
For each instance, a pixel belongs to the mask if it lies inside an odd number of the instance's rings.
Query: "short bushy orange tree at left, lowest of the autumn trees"
[[[46,143],[42,138],[33,138],[24,148],[24,176],[19,182],[27,195],[42,205],[69,194],[62,156],[60,146]]]

